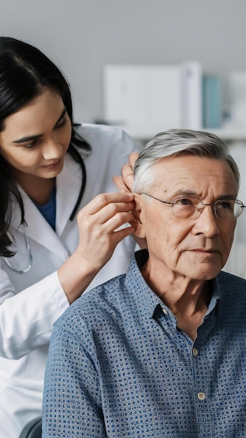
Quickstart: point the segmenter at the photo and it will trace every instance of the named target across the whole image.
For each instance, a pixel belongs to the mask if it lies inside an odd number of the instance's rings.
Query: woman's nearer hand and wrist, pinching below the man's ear
[[[117,244],[135,231],[135,203],[126,192],[103,193],[92,199],[77,216],[78,248],[58,269],[59,281],[71,303],[87,288],[113,255]],[[128,224],[129,226],[123,227]]]

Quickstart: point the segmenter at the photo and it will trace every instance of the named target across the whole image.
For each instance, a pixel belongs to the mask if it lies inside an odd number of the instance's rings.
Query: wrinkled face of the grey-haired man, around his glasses
[[[166,202],[198,197],[204,204],[236,199],[238,184],[224,160],[177,156],[156,164],[155,183],[148,193]],[[152,269],[194,280],[214,278],[224,267],[233,243],[236,220],[215,217],[203,206],[198,218],[177,218],[172,206],[136,195],[140,206],[140,236],[146,236]]]

